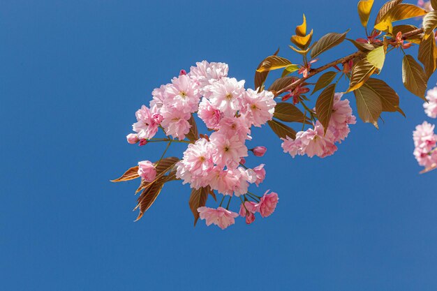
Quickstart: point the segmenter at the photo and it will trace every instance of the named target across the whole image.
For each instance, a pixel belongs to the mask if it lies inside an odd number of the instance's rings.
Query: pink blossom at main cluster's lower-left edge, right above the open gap
[[[165,134],[177,137],[179,140],[184,140],[185,135],[191,128],[191,125],[188,123],[191,114],[165,106],[162,108],[162,116],[163,121],[161,121],[161,126],[164,128]]]

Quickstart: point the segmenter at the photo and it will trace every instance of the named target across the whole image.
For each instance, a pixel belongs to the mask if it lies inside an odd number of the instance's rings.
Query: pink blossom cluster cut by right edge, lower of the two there
[[[434,125],[424,121],[413,131],[415,146],[413,154],[419,165],[424,166],[426,170],[433,169],[437,165],[437,135],[434,133],[434,128]]]

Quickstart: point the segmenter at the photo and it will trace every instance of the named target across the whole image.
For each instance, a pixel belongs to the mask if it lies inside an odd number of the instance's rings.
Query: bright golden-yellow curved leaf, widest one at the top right
[[[423,10],[412,4],[398,4],[393,6],[385,15],[380,19],[380,22],[375,25],[375,29],[380,31],[389,31],[392,33],[392,22],[399,20],[406,20],[408,18],[420,17],[427,14],[427,11]]]

